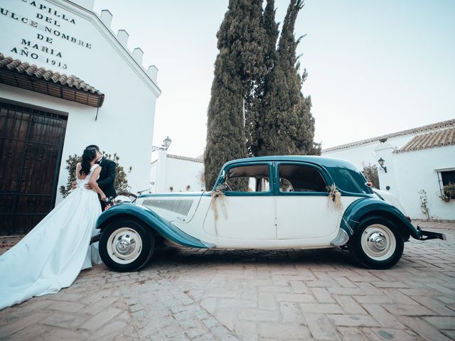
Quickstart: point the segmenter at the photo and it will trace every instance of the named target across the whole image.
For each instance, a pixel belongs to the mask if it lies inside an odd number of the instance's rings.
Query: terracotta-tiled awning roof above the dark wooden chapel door
[[[37,67],[0,53],[0,82],[68,101],[101,107],[105,94],[83,80]]]

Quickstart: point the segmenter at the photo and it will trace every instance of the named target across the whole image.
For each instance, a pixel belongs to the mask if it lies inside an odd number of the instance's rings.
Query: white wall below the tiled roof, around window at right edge
[[[419,190],[425,190],[431,219],[455,220],[455,200],[441,200],[438,174],[435,171],[455,167],[455,146],[393,153],[393,156],[396,171],[392,171],[392,174],[400,183],[400,201],[407,214],[413,219],[427,219],[420,207],[419,194]]]

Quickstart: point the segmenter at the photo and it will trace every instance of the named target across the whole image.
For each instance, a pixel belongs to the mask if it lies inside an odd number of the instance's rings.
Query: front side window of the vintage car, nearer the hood
[[[269,166],[232,167],[226,173],[225,187],[228,192],[268,192]]]

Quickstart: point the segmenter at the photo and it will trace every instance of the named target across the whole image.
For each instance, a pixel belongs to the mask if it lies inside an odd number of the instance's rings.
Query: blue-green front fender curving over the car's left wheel
[[[132,217],[134,220],[144,222],[144,224],[149,226],[151,229],[154,229],[154,231],[162,237],[170,239],[177,244],[181,244],[186,247],[197,247],[203,249],[208,248],[208,245],[205,245],[199,239],[191,237],[191,235],[186,234],[181,229],[178,229],[178,227],[174,226],[168,220],[160,217],[148,207],[132,203],[114,205],[108,210],[105,210],[105,212],[98,217],[96,228],[102,230],[110,222],[127,217]]]

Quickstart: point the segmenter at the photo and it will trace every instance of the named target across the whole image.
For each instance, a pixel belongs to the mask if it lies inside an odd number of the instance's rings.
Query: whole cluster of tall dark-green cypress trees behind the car
[[[301,92],[294,38],[303,0],[291,0],[279,38],[274,0],[230,0],[218,31],[208,107],[205,186],[213,187],[223,163],[245,156],[320,155],[311,97]]]

